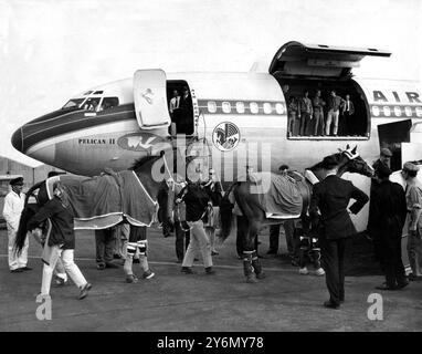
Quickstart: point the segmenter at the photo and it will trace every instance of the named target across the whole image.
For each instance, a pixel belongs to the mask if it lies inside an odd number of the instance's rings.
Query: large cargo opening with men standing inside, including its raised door
[[[373,48],[299,42],[288,42],[277,51],[268,72],[285,95],[288,138],[369,138],[368,102],[352,80],[352,69],[368,55],[390,56],[391,53]],[[320,96],[317,96],[318,91]],[[347,95],[350,100],[346,100]]]

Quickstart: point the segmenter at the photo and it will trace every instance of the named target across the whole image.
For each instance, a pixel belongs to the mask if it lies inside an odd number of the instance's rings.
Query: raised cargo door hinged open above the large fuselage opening
[[[288,42],[275,54],[270,74],[283,77],[348,77],[352,67],[367,55],[390,56],[378,49],[339,48],[323,44]]]

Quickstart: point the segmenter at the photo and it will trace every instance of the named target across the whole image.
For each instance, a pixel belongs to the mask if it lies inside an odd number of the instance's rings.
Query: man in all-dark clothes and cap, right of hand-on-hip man
[[[409,284],[401,260],[401,233],[408,211],[405,194],[399,184],[389,180],[390,175],[390,168],[379,166],[376,173],[379,187],[371,200],[376,212],[373,227],[378,231],[382,270],[386,273],[386,283],[376,287],[379,290],[398,290]]]

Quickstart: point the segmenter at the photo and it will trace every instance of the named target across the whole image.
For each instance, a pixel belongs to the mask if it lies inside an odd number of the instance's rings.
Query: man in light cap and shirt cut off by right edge
[[[409,212],[408,256],[412,273],[409,280],[422,280],[422,184],[416,179],[419,167],[405,163],[402,169],[405,179],[405,200]]]

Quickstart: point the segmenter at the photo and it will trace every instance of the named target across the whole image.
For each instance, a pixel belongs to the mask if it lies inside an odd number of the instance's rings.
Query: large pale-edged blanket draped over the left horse
[[[151,226],[157,202],[133,170],[107,171],[101,176],[54,176],[46,179],[49,198],[60,180],[70,201],[75,230],[105,229],[124,218],[134,226]]]

